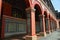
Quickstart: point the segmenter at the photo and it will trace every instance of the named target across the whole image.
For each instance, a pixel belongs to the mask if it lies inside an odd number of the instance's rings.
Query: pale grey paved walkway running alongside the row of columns
[[[54,31],[46,37],[40,37],[38,40],[60,40],[60,30]]]

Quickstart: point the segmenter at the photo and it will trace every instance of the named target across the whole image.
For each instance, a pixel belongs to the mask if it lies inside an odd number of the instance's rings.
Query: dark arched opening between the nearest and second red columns
[[[34,8],[36,9],[35,11],[36,33],[40,33],[41,32],[40,15],[42,15],[42,10],[38,4],[35,4]]]

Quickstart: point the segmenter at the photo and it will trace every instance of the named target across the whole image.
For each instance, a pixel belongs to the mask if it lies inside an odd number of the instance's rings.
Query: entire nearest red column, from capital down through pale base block
[[[29,23],[29,27],[28,30],[30,31],[29,32],[29,36],[26,36],[26,40],[37,40],[37,36],[36,36],[36,28],[35,28],[35,9],[34,8],[27,8],[26,9],[27,11],[27,14],[30,15],[30,17],[28,16],[28,19],[27,21],[30,21],[28,22]],[[28,25],[28,24],[27,24]]]

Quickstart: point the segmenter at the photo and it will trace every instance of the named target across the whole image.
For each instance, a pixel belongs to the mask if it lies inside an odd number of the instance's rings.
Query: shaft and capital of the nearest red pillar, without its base
[[[32,8],[27,8],[27,25],[30,27],[28,30],[30,31],[30,35],[35,35],[35,11]]]

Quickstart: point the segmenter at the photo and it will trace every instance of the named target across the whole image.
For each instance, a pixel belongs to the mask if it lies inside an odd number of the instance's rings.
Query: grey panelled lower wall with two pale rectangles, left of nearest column
[[[26,20],[6,21],[5,33],[15,33],[15,32],[26,33]]]

